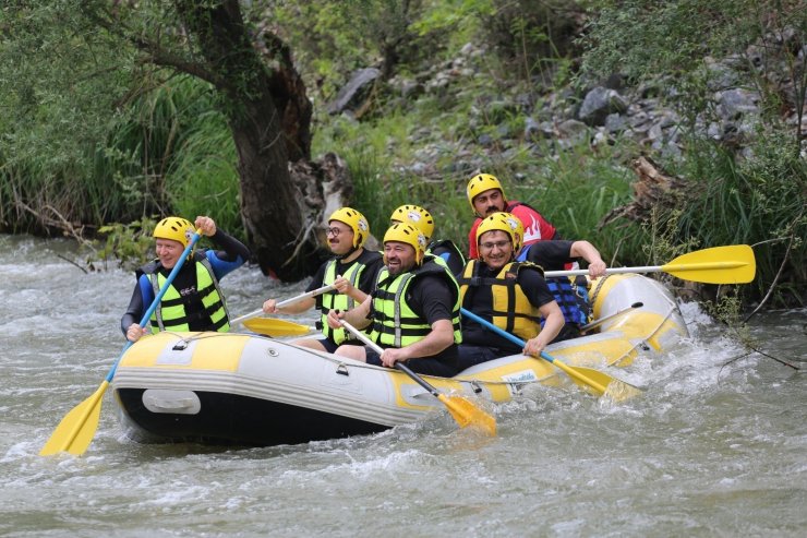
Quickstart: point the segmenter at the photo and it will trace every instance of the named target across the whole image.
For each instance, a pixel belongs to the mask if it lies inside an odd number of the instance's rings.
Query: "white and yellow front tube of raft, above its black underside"
[[[385,426],[417,421],[442,408],[400,372],[227,333],[149,336],[127,351],[112,387],[145,388],[144,405],[154,413],[200,413],[195,392],[250,396]]]

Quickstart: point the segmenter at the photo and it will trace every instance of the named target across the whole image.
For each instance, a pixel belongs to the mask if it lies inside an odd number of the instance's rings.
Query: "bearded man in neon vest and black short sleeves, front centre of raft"
[[[358,307],[332,310],[328,325],[346,320],[369,327],[381,356],[364,346],[340,346],[337,355],[394,368],[405,362],[412,371],[450,378],[458,372],[459,288],[448,268],[425,256],[426,241],[417,228],[397,223],[384,235],[385,266],[376,289]]]

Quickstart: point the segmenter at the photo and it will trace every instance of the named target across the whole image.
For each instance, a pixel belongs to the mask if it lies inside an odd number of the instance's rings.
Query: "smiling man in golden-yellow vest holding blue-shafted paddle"
[[[537,357],[564,326],[563,313],[541,267],[516,261],[522,237],[521,220],[515,215],[494,213],[485,217],[477,229],[479,260],[470,260],[458,279],[462,308],[527,345],[520,348],[480,323],[463,320],[460,370],[519,352]]]

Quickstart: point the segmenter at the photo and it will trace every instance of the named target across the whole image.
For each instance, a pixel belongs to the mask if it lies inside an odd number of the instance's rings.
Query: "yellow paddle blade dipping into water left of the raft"
[[[69,452],[75,456],[81,456],[86,452],[93,441],[95,431],[98,429],[101,402],[107,386],[109,386],[109,382],[104,380],[92,396],[73,407],[64,416],[48,442],[43,446],[43,450],[39,451],[40,456],[50,456],[59,452]]]

